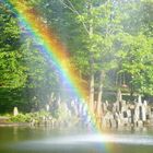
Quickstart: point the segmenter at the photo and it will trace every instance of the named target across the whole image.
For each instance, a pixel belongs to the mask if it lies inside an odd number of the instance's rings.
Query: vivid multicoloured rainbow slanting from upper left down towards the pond
[[[4,1],[5,3],[5,1]],[[70,55],[64,45],[56,37],[54,32],[40,20],[39,15],[34,9],[28,9],[24,0],[9,0],[7,2],[11,9],[16,13],[21,26],[25,26],[31,31],[30,36],[37,42],[43,43],[43,47],[39,48],[44,55],[47,55],[49,59],[56,63],[56,69],[60,71],[63,79],[69,83],[69,87],[73,89],[75,95],[80,99],[86,99],[86,89],[81,83],[81,79],[78,75],[78,71],[70,62]],[[96,130],[98,126],[95,123],[96,119],[93,115],[89,103],[82,101],[86,106],[87,116],[91,118],[92,125]]]

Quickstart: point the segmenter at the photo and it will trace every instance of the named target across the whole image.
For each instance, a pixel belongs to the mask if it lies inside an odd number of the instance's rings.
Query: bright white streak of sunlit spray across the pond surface
[[[132,145],[153,145],[153,138],[150,136],[136,136],[136,134],[84,134],[84,136],[70,136],[55,139],[45,139],[39,141],[23,142],[21,145],[83,145],[86,143],[121,143]]]

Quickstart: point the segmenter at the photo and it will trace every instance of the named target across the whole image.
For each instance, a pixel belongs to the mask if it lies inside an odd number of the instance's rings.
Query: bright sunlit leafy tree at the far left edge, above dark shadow
[[[21,32],[15,14],[4,4],[0,7],[0,86],[20,87],[26,80],[25,67],[21,64]]]

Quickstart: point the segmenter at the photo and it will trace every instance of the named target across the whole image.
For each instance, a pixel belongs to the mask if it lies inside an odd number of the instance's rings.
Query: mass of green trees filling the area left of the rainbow
[[[0,92],[2,111],[45,105],[58,85],[58,72],[40,52],[40,44],[30,37],[12,5],[1,2],[0,13]],[[10,103],[10,105],[8,105]],[[28,105],[27,105],[28,104]]]

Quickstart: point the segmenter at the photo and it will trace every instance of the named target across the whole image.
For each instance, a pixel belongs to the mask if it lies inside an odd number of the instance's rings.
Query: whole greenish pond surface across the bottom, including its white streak
[[[93,132],[1,127],[0,153],[153,153],[153,129]]]

